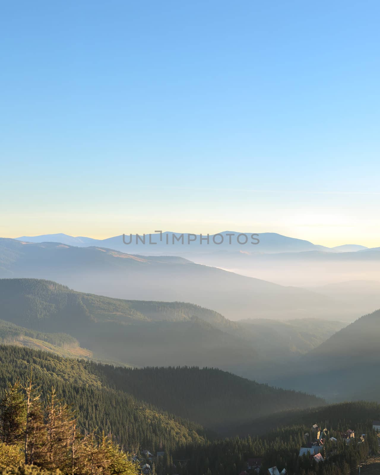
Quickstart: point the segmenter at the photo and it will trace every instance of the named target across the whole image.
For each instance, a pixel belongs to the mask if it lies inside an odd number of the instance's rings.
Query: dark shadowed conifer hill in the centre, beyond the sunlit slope
[[[217,431],[274,412],[324,404],[315,396],[213,368],[129,369],[95,363],[90,367],[107,385]]]

